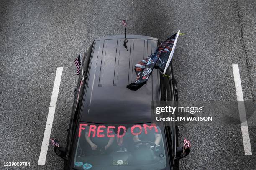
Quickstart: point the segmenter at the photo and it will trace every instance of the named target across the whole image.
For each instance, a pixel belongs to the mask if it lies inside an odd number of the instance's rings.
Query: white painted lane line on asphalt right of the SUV
[[[243,91],[239,73],[238,64],[232,64],[233,67],[233,74],[234,74],[234,81],[236,86],[236,98],[238,103],[238,112],[241,121],[241,131],[243,137],[243,148],[244,148],[244,155],[252,155],[251,153],[251,142],[250,136],[248,131],[247,119],[246,119],[246,112],[244,107],[243,101]]]

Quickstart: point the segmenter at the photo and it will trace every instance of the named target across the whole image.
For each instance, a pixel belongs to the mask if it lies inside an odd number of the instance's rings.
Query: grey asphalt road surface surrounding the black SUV
[[[74,58],[95,38],[123,34],[159,38],[181,30],[173,58],[180,100],[236,100],[238,64],[244,100],[256,99],[255,0],[0,1],[0,169],[61,170],[49,146],[38,166],[57,67],[63,67],[51,137],[66,144],[77,84]],[[256,127],[248,124],[252,155],[244,155],[240,125],[181,127],[191,140],[182,170],[256,169]],[[30,162],[30,167],[4,167]]]

